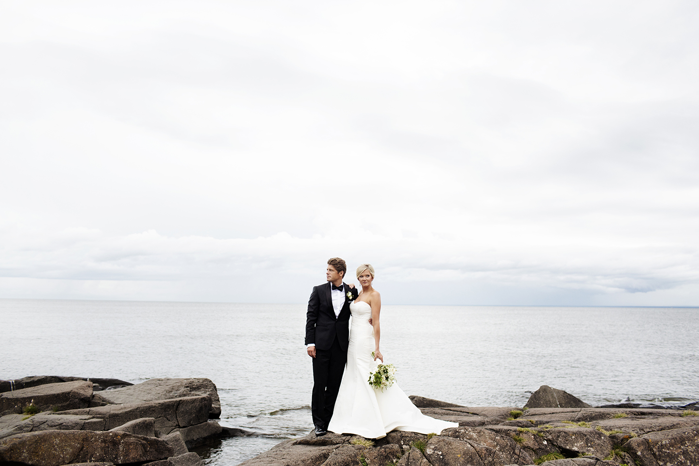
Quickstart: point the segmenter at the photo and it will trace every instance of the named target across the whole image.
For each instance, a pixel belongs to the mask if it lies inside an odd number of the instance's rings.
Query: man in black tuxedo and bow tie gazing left
[[[308,300],[305,344],[313,358],[311,414],[315,435],[325,435],[328,430],[347,363],[349,303],[359,293],[343,283],[345,272],[345,261],[329,259],[325,271],[328,282],[314,286]]]

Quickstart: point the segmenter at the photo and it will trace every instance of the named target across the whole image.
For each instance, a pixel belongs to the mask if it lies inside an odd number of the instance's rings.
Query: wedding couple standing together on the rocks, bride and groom
[[[379,349],[381,295],[373,289],[375,272],[370,264],[356,270],[361,291],[343,283],[346,272],[343,259],[329,259],[328,282],[314,286],[308,300],[305,343],[313,358],[315,434],[325,435],[329,430],[380,439],[391,430],[429,434],[457,427],[457,423],[422,414],[398,384],[383,390],[369,384],[376,360],[384,360]]]

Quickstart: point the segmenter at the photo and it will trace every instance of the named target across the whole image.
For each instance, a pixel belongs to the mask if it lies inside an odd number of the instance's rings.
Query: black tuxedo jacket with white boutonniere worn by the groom
[[[315,343],[316,349],[330,349],[337,335],[340,348],[347,351],[349,343],[349,303],[359,296],[356,288],[349,288],[343,282],[345,288],[345,305],[339,316],[335,316],[333,298],[330,296],[331,283],[314,286],[308,300],[308,312],[306,312],[306,337],[305,344]],[[347,293],[351,293],[347,296]]]

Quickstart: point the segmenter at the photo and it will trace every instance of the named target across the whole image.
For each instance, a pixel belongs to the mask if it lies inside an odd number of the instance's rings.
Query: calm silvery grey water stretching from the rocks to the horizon
[[[589,404],[699,400],[699,309],[384,306],[382,353],[408,394],[521,407],[547,384]],[[237,465],[312,428],[305,305],[0,300],[0,379],[208,377],[222,422],[199,449]]]

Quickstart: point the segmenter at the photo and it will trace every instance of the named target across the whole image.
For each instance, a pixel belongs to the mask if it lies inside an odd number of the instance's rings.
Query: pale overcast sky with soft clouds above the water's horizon
[[[694,1],[0,3],[0,297],[699,305]]]

